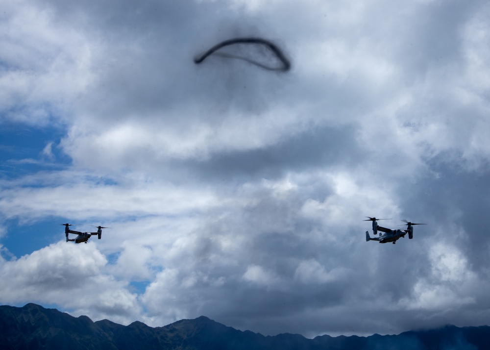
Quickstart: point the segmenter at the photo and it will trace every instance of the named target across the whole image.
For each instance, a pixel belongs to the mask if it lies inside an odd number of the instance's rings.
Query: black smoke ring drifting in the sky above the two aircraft
[[[234,44],[262,44],[262,45],[268,47],[276,55],[276,57],[279,59],[279,61],[281,61],[282,66],[281,67],[269,67],[269,66],[261,64],[257,61],[249,59],[249,58],[236,56],[236,55],[232,55],[232,54],[228,54],[228,53],[216,52],[217,50],[220,50],[221,48],[224,48],[225,46],[234,45]],[[269,40],[262,39],[262,38],[233,38],[233,39],[228,39],[228,40],[222,41],[221,43],[216,44],[211,49],[204,52],[201,56],[196,57],[194,59],[194,62],[196,64],[199,64],[199,63],[203,62],[209,55],[212,55],[212,54],[215,54],[216,56],[221,56],[221,57],[241,59],[241,60],[244,60],[245,62],[251,63],[255,66],[266,69],[268,71],[287,72],[291,68],[291,62],[286,58],[284,53],[274,43],[270,42]]]

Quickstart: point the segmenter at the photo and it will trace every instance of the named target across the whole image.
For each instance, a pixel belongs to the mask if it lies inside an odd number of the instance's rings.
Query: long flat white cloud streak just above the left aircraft
[[[4,190],[0,198],[3,215],[7,218],[58,215],[74,220],[99,217],[101,212],[105,220],[113,220],[122,214],[184,215],[187,211],[191,215],[204,207],[212,207],[216,200],[207,189],[181,189],[172,184],[152,184],[151,181],[131,181],[126,187],[124,184],[106,185],[103,178],[94,183],[90,173],[58,175],[66,175],[68,179],[52,186],[50,174],[44,174],[46,182],[43,175],[38,175],[33,180],[45,185],[41,188],[18,187],[15,182],[5,182],[4,185],[13,187]],[[72,175],[75,177],[70,178]]]

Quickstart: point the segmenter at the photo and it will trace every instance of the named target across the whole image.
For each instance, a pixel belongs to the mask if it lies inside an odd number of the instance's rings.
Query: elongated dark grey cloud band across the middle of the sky
[[[206,180],[280,178],[288,172],[328,167],[352,167],[369,154],[352,127],[312,126],[284,141],[255,150],[222,151],[207,160],[172,160],[176,174],[186,172]]]

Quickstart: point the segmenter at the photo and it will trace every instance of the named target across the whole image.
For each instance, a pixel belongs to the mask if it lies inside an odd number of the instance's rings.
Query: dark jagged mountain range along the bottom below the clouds
[[[0,306],[1,350],[488,350],[490,327],[456,327],[374,334],[368,337],[329,335],[314,339],[299,334],[263,336],[221,325],[205,316],[163,327],[141,322],[118,325],[92,322],[36,304]]]

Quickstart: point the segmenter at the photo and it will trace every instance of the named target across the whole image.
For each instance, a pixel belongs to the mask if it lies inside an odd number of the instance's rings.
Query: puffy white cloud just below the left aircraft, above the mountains
[[[128,324],[141,311],[124,282],[104,274],[105,257],[94,245],[57,243],[19,259],[3,261],[3,303],[53,303],[75,315]]]

